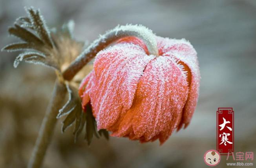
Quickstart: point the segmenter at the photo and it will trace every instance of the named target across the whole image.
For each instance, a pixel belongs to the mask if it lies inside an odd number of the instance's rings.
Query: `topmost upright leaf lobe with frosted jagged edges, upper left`
[[[53,48],[53,43],[50,37],[48,27],[45,24],[43,16],[40,15],[39,10],[34,10],[33,7],[27,9],[29,19],[36,30],[38,36],[44,41],[45,44]]]

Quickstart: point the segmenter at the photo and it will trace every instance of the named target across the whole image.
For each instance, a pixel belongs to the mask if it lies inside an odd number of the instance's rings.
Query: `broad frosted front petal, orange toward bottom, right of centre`
[[[150,61],[139,80],[133,105],[113,136],[163,143],[177,127],[187,100],[187,77],[171,57]]]

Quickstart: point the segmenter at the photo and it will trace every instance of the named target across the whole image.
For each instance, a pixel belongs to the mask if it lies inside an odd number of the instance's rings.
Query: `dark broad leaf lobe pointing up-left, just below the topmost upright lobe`
[[[9,34],[12,34],[27,43],[35,43],[36,45],[43,45],[42,40],[40,40],[35,34],[32,32],[26,30],[23,27],[20,27],[19,25],[15,24],[15,27],[10,27],[8,29]]]

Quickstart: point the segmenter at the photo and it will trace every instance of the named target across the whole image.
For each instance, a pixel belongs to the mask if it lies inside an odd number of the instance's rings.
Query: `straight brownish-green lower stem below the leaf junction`
[[[57,79],[53,89],[53,95],[47,108],[46,115],[44,116],[44,120],[39,130],[32,156],[27,166],[28,168],[40,168],[40,166],[42,165],[44,155],[51,141],[53,130],[57,122],[56,116],[59,113],[59,109],[61,109],[63,105],[65,95],[66,86],[62,82],[60,82],[59,79]]]

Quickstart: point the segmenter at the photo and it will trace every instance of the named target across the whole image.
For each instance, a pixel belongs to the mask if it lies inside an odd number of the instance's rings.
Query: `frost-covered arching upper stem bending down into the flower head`
[[[152,30],[141,25],[117,26],[115,29],[106,32],[104,35],[100,36],[99,39],[93,41],[93,43],[91,43],[91,45],[64,71],[64,79],[71,80],[100,50],[118,39],[127,36],[136,36],[142,39],[148,48],[148,52],[158,56],[157,42]]]

